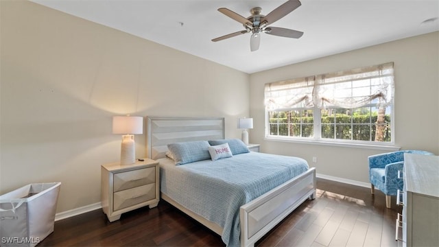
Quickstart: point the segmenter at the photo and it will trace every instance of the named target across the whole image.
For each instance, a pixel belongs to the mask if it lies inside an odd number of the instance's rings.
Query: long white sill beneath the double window
[[[367,148],[372,150],[387,150],[387,151],[398,151],[401,147],[397,147],[394,145],[374,145],[374,144],[365,144],[365,143],[342,143],[342,142],[330,142],[330,141],[317,141],[317,140],[299,140],[299,139],[286,139],[279,137],[265,137],[265,141],[283,141],[289,143],[300,143],[300,144],[309,144],[309,145],[327,145],[327,146],[335,146],[342,148]]]

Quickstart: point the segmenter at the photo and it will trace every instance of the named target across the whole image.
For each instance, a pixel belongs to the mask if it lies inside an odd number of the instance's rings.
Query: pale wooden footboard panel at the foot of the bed
[[[316,198],[316,168],[241,206],[241,246],[254,246],[257,240],[308,198]]]

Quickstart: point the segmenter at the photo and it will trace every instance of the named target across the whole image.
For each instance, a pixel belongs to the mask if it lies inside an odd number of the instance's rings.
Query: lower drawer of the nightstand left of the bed
[[[154,198],[156,198],[155,183],[119,191],[114,194],[113,210],[124,209]]]

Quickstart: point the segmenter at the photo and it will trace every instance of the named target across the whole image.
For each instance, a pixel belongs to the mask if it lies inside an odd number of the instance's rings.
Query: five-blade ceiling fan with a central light
[[[293,10],[296,10],[301,5],[299,0],[289,0],[286,3],[283,3],[278,8],[267,14],[266,16],[261,14],[261,8],[256,7],[250,10],[252,14],[250,17],[245,18],[232,10],[228,10],[227,8],[219,8],[218,11],[222,12],[226,16],[234,19],[235,21],[242,23],[246,30],[242,30],[239,32],[234,32],[231,34],[226,34],[224,36],[214,38],[212,41],[217,42],[219,40],[224,40],[226,38],[232,38],[241,34],[246,34],[248,32],[252,33],[250,37],[250,51],[256,51],[259,49],[259,44],[261,43],[261,34],[271,34],[276,36],[282,36],[287,38],[300,38],[303,35],[303,32],[290,30],[283,27],[268,27],[269,24],[278,21],[283,16],[289,14]]]

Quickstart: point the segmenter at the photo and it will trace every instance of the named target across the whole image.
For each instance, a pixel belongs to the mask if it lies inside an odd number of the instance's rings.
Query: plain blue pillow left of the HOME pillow
[[[211,154],[209,154],[210,146],[207,141],[187,141],[168,144],[167,148],[174,157],[176,165],[183,165],[211,159]]]

